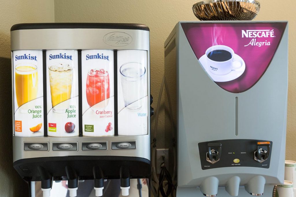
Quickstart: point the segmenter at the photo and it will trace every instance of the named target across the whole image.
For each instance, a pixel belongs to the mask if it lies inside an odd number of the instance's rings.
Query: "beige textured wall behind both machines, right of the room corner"
[[[160,84],[164,74],[163,43],[172,28],[180,20],[197,20],[192,12],[192,5],[200,0],[55,0],[56,22],[123,22],[142,23],[150,28],[151,39],[151,92],[156,108]],[[260,0],[259,0],[260,1]],[[261,0],[261,10],[256,20],[289,20],[289,98],[287,124],[287,159],[296,160],[293,149],[296,135],[296,22],[293,17],[294,0],[278,4],[274,1]],[[163,95],[164,97],[164,95]],[[163,98],[162,97],[162,98]],[[160,108],[157,147],[163,147],[164,114]],[[154,117],[152,116],[152,130]],[[153,132],[153,131],[152,131]]]

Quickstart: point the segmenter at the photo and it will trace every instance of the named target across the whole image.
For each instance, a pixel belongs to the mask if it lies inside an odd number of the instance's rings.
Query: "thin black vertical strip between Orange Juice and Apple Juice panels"
[[[46,50],[42,51],[43,62],[43,121],[44,136],[47,136]]]

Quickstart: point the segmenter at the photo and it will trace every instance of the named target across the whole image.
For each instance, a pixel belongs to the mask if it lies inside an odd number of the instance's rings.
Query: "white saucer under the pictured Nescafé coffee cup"
[[[205,71],[207,71],[207,74],[213,79],[214,82],[229,82],[232,81],[234,79],[237,79],[239,76],[241,76],[245,69],[246,69],[246,64],[244,63],[244,60],[237,54],[234,54],[234,58],[239,58],[242,61],[242,67],[240,67],[237,70],[232,70],[230,73],[225,74],[225,75],[216,75],[213,74],[209,71],[209,66],[207,65],[207,56],[203,55],[201,56],[201,58],[199,59],[200,64],[202,65],[202,67],[205,69]],[[234,61],[234,66],[235,65],[240,65],[239,61]]]

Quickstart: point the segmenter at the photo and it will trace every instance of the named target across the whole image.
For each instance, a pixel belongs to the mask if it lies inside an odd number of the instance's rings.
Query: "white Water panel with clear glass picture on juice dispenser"
[[[147,51],[117,52],[118,135],[148,134]]]

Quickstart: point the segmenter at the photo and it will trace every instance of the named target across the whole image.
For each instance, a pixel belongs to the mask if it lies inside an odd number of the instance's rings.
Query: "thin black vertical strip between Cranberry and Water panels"
[[[114,63],[114,136],[118,136],[118,88],[117,88],[117,50],[113,52]]]

